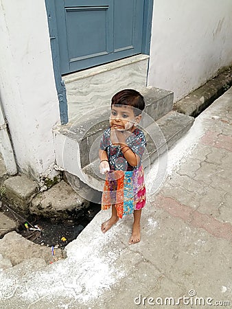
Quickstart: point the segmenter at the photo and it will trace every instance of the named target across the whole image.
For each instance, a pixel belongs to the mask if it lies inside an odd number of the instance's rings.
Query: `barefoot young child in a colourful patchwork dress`
[[[140,241],[141,209],[146,204],[146,188],[141,158],[146,139],[137,128],[145,108],[143,96],[133,89],[116,93],[111,100],[110,126],[100,141],[100,172],[106,174],[102,209],[112,205],[111,218],[102,223],[105,233],[119,218],[134,215],[129,244]]]

